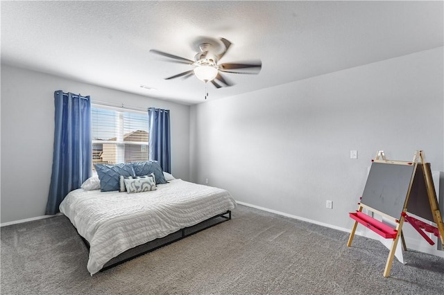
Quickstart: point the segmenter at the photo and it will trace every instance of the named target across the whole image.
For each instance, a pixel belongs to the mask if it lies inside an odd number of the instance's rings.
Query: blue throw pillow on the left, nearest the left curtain
[[[131,163],[120,163],[115,165],[110,164],[95,164],[97,175],[100,179],[100,190],[102,192],[110,192],[112,190],[119,190],[120,175],[135,176],[133,165]]]

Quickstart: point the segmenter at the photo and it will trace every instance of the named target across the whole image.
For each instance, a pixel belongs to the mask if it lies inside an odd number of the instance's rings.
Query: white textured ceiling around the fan
[[[196,38],[224,37],[221,62],[262,60],[226,74],[209,99],[273,87],[443,46],[443,1],[1,1],[1,62],[143,96],[203,102],[191,66]],[[140,85],[153,87],[147,90]]]

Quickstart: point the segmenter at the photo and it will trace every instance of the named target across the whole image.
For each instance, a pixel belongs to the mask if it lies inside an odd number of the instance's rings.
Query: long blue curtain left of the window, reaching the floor
[[[91,100],[73,93],[54,92],[55,131],[53,172],[46,214],[59,212],[67,193],[91,177]]]

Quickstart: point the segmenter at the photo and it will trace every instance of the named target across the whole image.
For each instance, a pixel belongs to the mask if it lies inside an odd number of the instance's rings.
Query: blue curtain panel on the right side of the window
[[[165,172],[171,173],[171,144],[169,128],[169,110],[148,109],[149,120],[149,159],[158,161]]]

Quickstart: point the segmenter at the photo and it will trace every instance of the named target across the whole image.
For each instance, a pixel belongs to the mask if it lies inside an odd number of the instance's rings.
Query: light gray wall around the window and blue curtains
[[[1,223],[44,215],[53,157],[54,91],[171,110],[171,171],[189,180],[189,106],[1,65]]]

